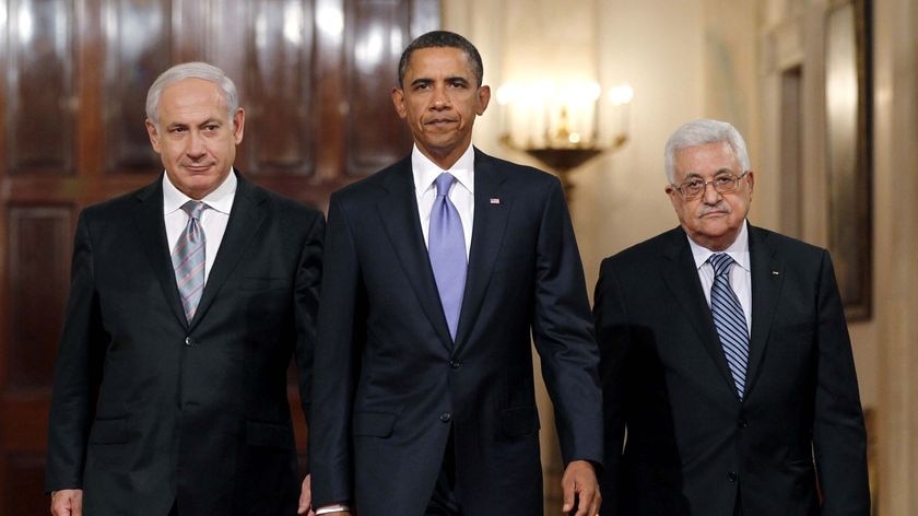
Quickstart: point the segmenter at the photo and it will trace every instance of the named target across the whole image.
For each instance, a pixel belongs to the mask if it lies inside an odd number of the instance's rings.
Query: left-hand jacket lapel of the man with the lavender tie
[[[449,337],[449,327],[440,306],[431,258],[424,244],[424,234],[421,232],[410,156],[396,164],[395,169],[382,181],[382,186],[387,195],[376,204],[379,219],[386,227],[421,309],[434,326],[444,345],[449,349],[452,347],[452,339]]]

